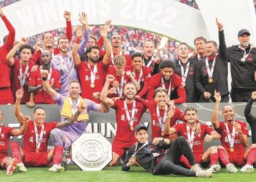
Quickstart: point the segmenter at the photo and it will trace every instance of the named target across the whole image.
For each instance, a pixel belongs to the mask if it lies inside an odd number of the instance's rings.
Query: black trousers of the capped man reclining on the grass
[[[165,157],[154,168],[153,174],[195,176],[195,172],[179,165],[181,155],[184,155],[189,160],[190,165],[195,165],[192,150],[184,137],[178,137],[176,141],[170,144],[170,148],[167,150]]]

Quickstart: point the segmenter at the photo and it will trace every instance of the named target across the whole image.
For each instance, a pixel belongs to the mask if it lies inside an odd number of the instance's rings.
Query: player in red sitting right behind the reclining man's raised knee
[[[174,112],[175,111],[170,110],[168,112],[168,118],[173,117]],[[165,124],[165,134],[170,135],[177,133],[179,136],[186,138],[190,148],[193,151],[195,162],[199,163],[203,167],[210,165],[210,170],[212,173],[216,173],[220,170],[220,165],[217,164],[219,159],[217,146],[211,146],[205,152],[203,152],[203,143],[204,141],[210,142],[213,138],[219,139],[219,133],[214,131],[211,127],[208,127],[206,124],[201,124],[200,132],[195,133],[198,117],[197,109],[192,106],[188,106],[186,108],[184,116],[187,122],[176,124],[173,127],[170,127],[170,122],[167,119]],[[183,161],[184,157],[181,159],[181,161]],[[187,165],[188,162],[185,162],[185,164]],[[190,168],[191,166],[188,165],[187,167]]]

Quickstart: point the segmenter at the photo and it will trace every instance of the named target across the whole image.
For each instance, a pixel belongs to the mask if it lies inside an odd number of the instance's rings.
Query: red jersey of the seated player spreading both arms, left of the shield
[[[39,151],[47,151],[48,140],[50,137],[50,131],[57,127],[57,122],[45,122],[45,130],[42,135],[42,143]],[[38,135],[40,135],[42,127],[37,127]],[[34,130],[34,122],[30,121],[23,135],[23,150],[24,151],[36,151],[36,133]]]

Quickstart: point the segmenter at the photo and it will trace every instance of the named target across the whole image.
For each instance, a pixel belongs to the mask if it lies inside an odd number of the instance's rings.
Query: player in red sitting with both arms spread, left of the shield
[[[15,116],[20,124],[24,123],[24,116],[20,111],[20,100],[23,97],[23,90],[16,92]],[[78,119],[78,116],[86,108],[86,106],[78,106],[78,111],[67,121],[64,122],[45,122],[45,109],[37,107],[34,109],[34,121],[29,121],[28,127],[23,135],[23,149],[20,148],[18,142],[12,142],[10,147],[12,156],[18,159],[17,170],[27,172],[25,166],[45,166],[50,162],[53,166],[50,167],[50,172],[62,172],[64,167],[60,166],[63,146],[54,146],[54,149],[47,151],[50,131],[56,127],[65,127],[72,124]],[[24,162],[24,163],[23,163]]]

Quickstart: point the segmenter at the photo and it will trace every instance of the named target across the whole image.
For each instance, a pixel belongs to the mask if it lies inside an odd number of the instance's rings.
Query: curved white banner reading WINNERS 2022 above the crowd
[[[200,11],[174,0],[23,0],[4,7],[4,14],[16,30],[16,38],[65,27],[64,10],[72,13],[72,25],[79,25],[78,13],[86,12],[89,24],[140,28],[185,41],[194,47],[197,36],[209,38]],[[0,37],[7,34],[0,21]]]

